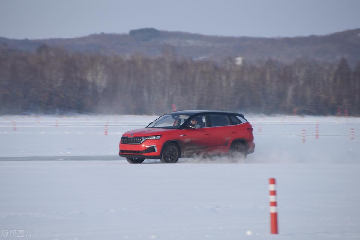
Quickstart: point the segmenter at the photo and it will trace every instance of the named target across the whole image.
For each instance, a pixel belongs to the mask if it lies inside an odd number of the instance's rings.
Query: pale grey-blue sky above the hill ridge
[[[0,36],[127,33],[154,27],[224,36],[324,35],[360,27],[360,0],[0,0]]]

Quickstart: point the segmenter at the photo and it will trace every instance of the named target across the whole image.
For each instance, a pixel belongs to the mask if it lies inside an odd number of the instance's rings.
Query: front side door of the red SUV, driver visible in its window
[[[201,155],[208,151],[211,146],[211,133],[208,127],[207,116],[198,115],[193,118],[198,119],[198,127],[192,129],[182,129],[179,131],[181,141],[183,142],[184,155]],[[191,119],[189,119],[190,124]]]

